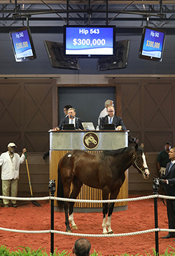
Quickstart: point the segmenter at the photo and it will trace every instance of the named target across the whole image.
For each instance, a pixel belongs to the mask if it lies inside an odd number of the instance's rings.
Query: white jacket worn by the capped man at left
[[[20,163],[25,161],[25,155],[14,153],[13,161],[11,161],[9,152],[5,152],[0,156],[1,180],[19,179]]]

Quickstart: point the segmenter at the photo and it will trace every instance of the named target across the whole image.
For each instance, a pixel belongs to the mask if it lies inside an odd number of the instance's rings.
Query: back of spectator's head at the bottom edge
[[[91,244],[85,238],[80,238],[76,240],[73,246],[73,255],[76,256],[88,256],[90,255]]]

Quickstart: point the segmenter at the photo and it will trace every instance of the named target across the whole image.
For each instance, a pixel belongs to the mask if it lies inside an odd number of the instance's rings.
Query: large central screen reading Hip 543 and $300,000
[[[64,27],[64,54],[76,58],[114,55],[115,26]]]

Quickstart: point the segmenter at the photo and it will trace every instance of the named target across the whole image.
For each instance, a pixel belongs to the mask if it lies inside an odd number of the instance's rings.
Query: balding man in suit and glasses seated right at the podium
[[[116,126],[116,130],[126,130],[126,127],[121,117],[115,115],[115,109],[113,106],[107,107],[107,113],[108,114],[100,120],[100,123],[99,123],[100,130],[104,129],[105,123],[114,123]]]

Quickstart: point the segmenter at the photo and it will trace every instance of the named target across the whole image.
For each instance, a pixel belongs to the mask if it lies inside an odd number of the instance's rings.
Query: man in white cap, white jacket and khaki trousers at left
[[[2,180],[2,194],[3,196],[16,197],[18,194],[18,179],[20,163],[25,161],[26,149],[22,149],[22,156],[15,153],[15,143],[8,144],[8,151],[1,154],[0,166],[1,167],[1,180]],[[3,199],[3,206],[9,206],[9,200]],[[11,206],[17,207],[16,201],[11,200]]]

